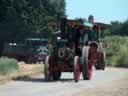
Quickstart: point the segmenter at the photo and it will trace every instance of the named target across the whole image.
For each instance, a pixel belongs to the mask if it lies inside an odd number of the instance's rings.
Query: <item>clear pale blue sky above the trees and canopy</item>
[[[87,19],[90,14],[96,22],[125,21],[128,19],[128,0],[66,0],[69,18]]]

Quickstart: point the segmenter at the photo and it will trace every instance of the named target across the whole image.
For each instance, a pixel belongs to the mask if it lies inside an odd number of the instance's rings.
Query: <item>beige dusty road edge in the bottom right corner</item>
[[[87,88],[72,96],[128,96],[128,78],[114,80],[96,88]]]

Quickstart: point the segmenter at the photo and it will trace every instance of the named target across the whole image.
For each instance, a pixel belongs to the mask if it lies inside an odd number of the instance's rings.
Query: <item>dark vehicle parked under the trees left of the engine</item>
[[[23,44],[6,43],[2,51],[3,56],[16,58],[26,63],[40,63],[48,54],[48,39],[29,38]]]

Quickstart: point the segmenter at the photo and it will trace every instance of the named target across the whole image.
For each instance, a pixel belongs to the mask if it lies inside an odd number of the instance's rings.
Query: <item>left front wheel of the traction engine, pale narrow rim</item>
[[[50,56],[47,56],[44,64],[44,75],[46,81],[51,80],[50,64],[51,64],[51,58]]]

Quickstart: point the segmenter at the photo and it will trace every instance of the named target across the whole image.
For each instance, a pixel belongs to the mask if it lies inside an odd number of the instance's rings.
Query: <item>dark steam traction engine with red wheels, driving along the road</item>
[[[55,22],[50,24],[58,26]],[[45,59],[45,80],[59,80],[62,72],[73,72],[75,82],[79,81],[81,72],[84,80],[90,80],[92,77],[92,65],[95,64],[96,69],[101,69],[99,67],[101,65],[98,65],[98,62],[101,63],[100,59],[104,55],[97,53],[99,45],[97,42],[80,45],[82,55],[76,54],[75,45],[70,40],[74,35],[73,33],[69,34],[67,28],[70,28],[72,25],[79,26],[81,24],[83,23],[80,21],[67,20],[65,18],[59,23],[61,31],[53,34],[49,44],[50,54]],[[86,26],[84,25],[84,27]]]

